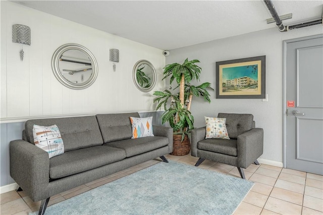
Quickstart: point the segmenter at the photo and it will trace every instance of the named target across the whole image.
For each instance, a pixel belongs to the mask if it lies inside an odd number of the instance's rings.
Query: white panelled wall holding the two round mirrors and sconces
[[[12,42],[12,25],[31,28],[31,45]],[[98,76],[84,90],[60,84],[52,74],[53,52],[66,43],[88,48],[98,63]],[[19,51],[23,47],[24,60]],[[120,50],[116,72],[109,49]],[[149,60],[157,82],[149,93],[140,92],[132,80],[134,64]],[[11,2],[1,1],[1,120],[2,122],[42,116],[154,110],[152,92],[165,88],[163,50],[108,34]]]

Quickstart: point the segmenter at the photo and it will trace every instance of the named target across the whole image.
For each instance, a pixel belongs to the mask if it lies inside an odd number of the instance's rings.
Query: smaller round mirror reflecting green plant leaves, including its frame
[[[142,92],[149,92],[156,84],[156,71],[148,60],[139,60],[133,67],[133,82]]]

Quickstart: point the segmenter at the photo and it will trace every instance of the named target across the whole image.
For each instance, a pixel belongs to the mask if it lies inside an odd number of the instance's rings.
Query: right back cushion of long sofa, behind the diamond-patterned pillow
[[[100,126],[103,142],[107,143],[131,138],[132,127],[130,116],[140,117],[137,112],[97,114],[96,119]]]

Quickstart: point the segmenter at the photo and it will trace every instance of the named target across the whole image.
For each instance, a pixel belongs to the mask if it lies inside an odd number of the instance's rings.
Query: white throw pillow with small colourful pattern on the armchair
[[[206,117],[206,133],[205,139],[217,138],[217,139],[230,139],[228,136],[226,118]]]

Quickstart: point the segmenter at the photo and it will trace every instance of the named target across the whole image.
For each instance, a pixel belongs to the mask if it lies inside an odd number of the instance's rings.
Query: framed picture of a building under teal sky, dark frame
[[[264,99],[266,56],[217,62],[218,99]]]

